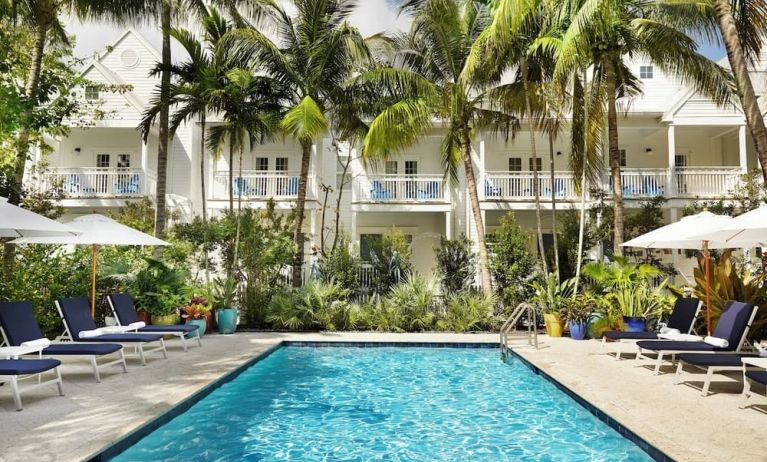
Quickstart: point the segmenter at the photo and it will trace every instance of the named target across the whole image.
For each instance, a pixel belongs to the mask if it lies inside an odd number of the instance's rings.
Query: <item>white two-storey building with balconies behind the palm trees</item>
[[[144,143],[136,126],[157,83],[148,73],[159,59],[156,50],[129,30],[84,69],[85,77],[92,81],[129,84],[132,90],[97,94],[86,89],[84,97],[100,100],[107,117],[96,120],[92,127],[72,128],[68,136],[52,140],[54,152],[46,159],[49,168],[43,185],[61,185],[69,213],[104,211],[154,196],[157,133]],[[636,208],[644,199],[663,195],[669,199],[666,217],[675,220],[690,200],[727,197],[740,175],[758,166],[741,111],[717,107],[663,75],[650,62],[637,61],[634,67],[642,78],[644,96],[633,100],[626,117],[619,121],[620,146],[625,152],[622,181],[626,207]],[[758,63],[754,74],[757,93],[761,94],[767,59]],[[579,206],[573,174],[568,170],[567,138],[563,136],[555,146],[557,173],[553,185],[548,178],[548,140],[544,136],[537,140],[539,157],[543,158],[538,168],[542,168],[539,181],[544,210],[551,208],[551,194],[559,200],[558,209]],[[440,236],[466,233],[476,237],[463,180],[458,185],[443,181],[440,141],[440,129],[435,128],[420,143],[378,166],[366,166],[353,149],[342,150],[337,156],[329,138],[319,141],[313,149],[307,198],[306,232],[312,242],[319,243],[322,228],[322,185],[334,189],[329,195],[326,223],[332,227],[341,165],[351,155],[348,175],[352,181],[342,200],[342,229],[359,244],[396,226],[412,237],[416,269],[431,274],[433,248]],[[512,210],[520,223],[533,229],[535,166],[525,128],[508,143],[479,135],[474,148],[487,232]],[[207,153],[208,159],[213,158],[211,154]],[[200,156],[199,125],[182,126],[170,146],[168,163],[168,204],[181,220],[201,212]],[[226,157],[209,160],[206,166],[205,194],[212,214],[228,206]],[[257,146],[248,153],[242,180],[235,180],[247,205],[262,207],[273,198],[281,209],[293,207],[300,158],[299,146],[290,141]],[[609,188],[607,175],[602,186]],[[544,226],[550,232],[548,214],[544,212]],[[668,258],[678,262],[681,257],[675,254]]]

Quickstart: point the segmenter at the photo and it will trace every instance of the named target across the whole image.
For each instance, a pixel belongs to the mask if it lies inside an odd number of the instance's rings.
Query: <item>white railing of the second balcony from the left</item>
[[[307,197],[313,197],[312,177],[309,176],[307,183]],[[242,196],[246,199],[277,199],[291,200],[298,198],[298,172],[274,172],[274,171],[243,171],[234,172],[231,180],[231,189],[235,198]],[[212,198],[228,199],[230,191],[230,179],[228,171],[216,171],[213,173]]]

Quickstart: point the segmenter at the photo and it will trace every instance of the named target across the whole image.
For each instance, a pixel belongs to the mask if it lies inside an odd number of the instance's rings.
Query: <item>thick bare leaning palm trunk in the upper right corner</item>
[[[740,97],[740,104],[743,107],[743,114],[756,145],[756,153],[762,167],[762,178],[767,185],[767,129],[764,126],[762,111],[759,109],[754,86],[751,83],[751,76],[748,74],[748,62],[740,43],[737,24],[732,16],[729,1],[717,0],[714,4],[714,10],[719,23],[719,32],[722,34],[722,41],[727,50],[727,59],[730,61],[730,68],[738,86],[738,97]]]

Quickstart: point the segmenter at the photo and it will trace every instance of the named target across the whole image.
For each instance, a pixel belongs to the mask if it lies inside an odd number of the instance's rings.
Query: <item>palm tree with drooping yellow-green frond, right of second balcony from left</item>
[[[344,83],[370,59],[365,42],[348,18],[353,0],[294,0],[294,17],[277,2],[265,2],[275,34],[255,28],[233,32],[232,50],[285,91],[282,130],[301,146],[301,173],[293,241],[293,285],[301,285],[303,224],[312,149],[331,125]]]

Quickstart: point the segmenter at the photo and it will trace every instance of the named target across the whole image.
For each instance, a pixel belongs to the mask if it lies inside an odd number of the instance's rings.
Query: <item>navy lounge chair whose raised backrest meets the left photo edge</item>
[[[32,302],[0,303],[0,331],[5,342],[10,346],[22,346],[27,342],[44,339],[40,326],[32,310]],[[99,364],[98,358],[117,354],[118,358]],[[128,372],[122,345],[116,343],[52,343],[43,348],[43,356],[82,356],[90,360],[96,382],[101,382],[99,369],[120,365],[123,372]]]

